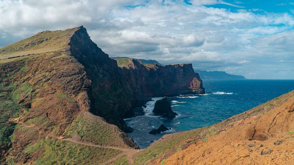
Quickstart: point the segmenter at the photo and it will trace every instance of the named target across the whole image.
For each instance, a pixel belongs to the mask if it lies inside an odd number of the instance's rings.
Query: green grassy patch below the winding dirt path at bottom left
[[[121,153],[119,150],[89,147],[53,138],[39,139],[26,147],[24,153],[35,155],[40,151],[42,154],[33,164],[101,164]]]

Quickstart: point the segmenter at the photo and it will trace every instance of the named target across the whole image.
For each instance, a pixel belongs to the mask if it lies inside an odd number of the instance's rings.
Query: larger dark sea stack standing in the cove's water
[[[152,111],[155,114],[162,115],[168,119],[173,119],[178,115],[171,110],[171,101],[168,97],[163,97],[161,100],[157,100]]]

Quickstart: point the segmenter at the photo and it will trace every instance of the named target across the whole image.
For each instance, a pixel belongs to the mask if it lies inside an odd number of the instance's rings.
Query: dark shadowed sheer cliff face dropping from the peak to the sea
[[[71,54],[85,67],[91,86],[94,114],[116,124],[124,131],[129,128],[123,117],[133,115],[132,108],[141,106],[148,97],[205,93],[202,80],[191,64],[143,65],[134,59],[120,67],[108,57],[81,27],[70,40]],[[125,65],[125,66],[123,66]]]

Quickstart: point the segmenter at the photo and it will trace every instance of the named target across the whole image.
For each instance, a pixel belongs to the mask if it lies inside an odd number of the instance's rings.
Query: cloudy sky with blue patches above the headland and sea
[[[111,57],[294,79],[294,1],[0,0],[0,47],[81,25]]]

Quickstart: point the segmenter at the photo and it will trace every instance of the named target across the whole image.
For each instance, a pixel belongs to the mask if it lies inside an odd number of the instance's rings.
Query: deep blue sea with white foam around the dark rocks
[[[171,97],[175,119],[165,119],[152,113],[156,100],[147,102],[143,116],[125,119],[134,132],[128,133],[140,148],[148,147],[163,134],[206,127],[233,115],[247,111],[268,100],[294,90],[294,80],[203,80],[205,95]],[[149,134],[161,124],[171,130]]]

